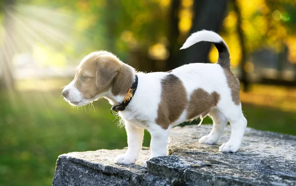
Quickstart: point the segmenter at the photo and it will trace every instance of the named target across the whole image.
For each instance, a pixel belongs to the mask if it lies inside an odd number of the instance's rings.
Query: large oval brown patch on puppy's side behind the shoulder
[[[187,93],[182,81],[174,74],[161,80],[161,101],[158,105],[156,123],[167,129],[176,121],[187,105]]]

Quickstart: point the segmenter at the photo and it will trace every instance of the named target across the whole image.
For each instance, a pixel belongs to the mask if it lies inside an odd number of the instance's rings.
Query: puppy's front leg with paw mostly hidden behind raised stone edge
[[[148,128],[151,135],[150,149],[151,156],[150,159],[157,156],[168,155],[168,143],[169,143],[169,133],[171,128],[163,129],[159,125],[152,125]],[[143,167],[147,167],[147,162],[142,163]]]

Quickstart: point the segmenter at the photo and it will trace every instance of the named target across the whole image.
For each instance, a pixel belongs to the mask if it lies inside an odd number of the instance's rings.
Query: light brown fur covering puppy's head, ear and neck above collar
[[[91,99],[111,87],[113,95],[125,95],[134,79],[131,67],[113,54],[101,51],[90,54],[76,71],[74,81],[83,97]]]

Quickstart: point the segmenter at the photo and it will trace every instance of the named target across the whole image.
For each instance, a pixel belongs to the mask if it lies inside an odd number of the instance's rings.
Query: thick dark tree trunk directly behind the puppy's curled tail
[[[194,19],[190,33],[200,30],[211,30],[218,32],[222,26],[222,21],[227,7],[227,0],[195,0],[194,1]],[[208,54],[211,49],[211,43],[196,43],[180,52],[181,64],[189,63],[207,63]]]

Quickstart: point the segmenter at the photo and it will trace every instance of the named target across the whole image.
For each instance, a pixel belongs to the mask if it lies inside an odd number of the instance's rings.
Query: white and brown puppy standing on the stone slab
[[[171,128],[181,122],[209,115],[213,129],[200,138],[202,144],[215,144],[227,121],[231,136],[219,148],[236,152],[244,135],[247,120],[239,99],[239,80],[230,72],[228,48],[222,37],[211,31],[192,34],[181,49],[196,42],[213,42],[219,51],[216,64],[194,63],[171,72],[137,73],[106,51],[93,52],[80,62],[74,80],[63,90],[71,105],[83,106],[104,97],[111,105],[123,102],[138,75],[138,87],[120,117],[125,121],[128,149],[115,162],[132,164],[142,149],[144,129],[151,134],[151,156],[168,154]],[[146,162],[142,163],[147,166]]]

